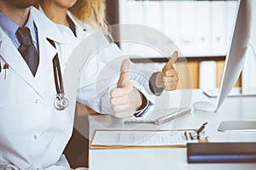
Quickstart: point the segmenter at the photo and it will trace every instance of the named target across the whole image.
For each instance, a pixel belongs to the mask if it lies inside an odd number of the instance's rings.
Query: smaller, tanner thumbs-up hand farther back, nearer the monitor
[[[157,88],[164,88],[171,91],[177,88],[178,76],[173,64],[177,60],[177,51],[172,54],[171,59],[166,63],[162,71],[156,76],[155,85]]]

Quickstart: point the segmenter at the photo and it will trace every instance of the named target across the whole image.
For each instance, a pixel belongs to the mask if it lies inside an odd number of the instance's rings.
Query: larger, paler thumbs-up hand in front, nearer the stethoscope
[[[117,117],[132,116],[142,105],[143,97],[137,88],[131,86],[128,78],[130,60],[125,59],[121,65],[120,77],[117,88],[110,93],[111,105]]]

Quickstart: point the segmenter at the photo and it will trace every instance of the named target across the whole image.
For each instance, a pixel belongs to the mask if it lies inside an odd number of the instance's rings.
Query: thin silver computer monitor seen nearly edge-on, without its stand
[[[224,72],[220,83],[215,112],[230,94],[244,65],[248,43],[252,33],[253,0],[239,0],[236,8],[236,22],[233,26],[232,40],[225,59]],[[256,64],[256,63],[255,63]]]

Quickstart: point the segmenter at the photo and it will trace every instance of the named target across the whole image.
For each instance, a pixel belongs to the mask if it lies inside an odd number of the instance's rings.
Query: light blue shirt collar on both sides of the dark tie
[[[15,32],[18,30],[19,26],[13,21],[10,20],[5,14],[0,12],[0,26],[2,27],[3,31],[7,34],[8,37],[11,39],[16,38]],[[37,41],[37,33],[36,33],[36,26],[33,23],[33,17],[31,13],[31,9],[29,11],[29,16],[26,21],[24,27],[28,27],[32,34],[32,41]]]

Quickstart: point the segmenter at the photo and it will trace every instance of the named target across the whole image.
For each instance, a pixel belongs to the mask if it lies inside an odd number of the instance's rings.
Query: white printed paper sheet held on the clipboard
[[[184,131],[101,131],[97,130],[91,145],[105,146],[165,146],[187,144]]]

